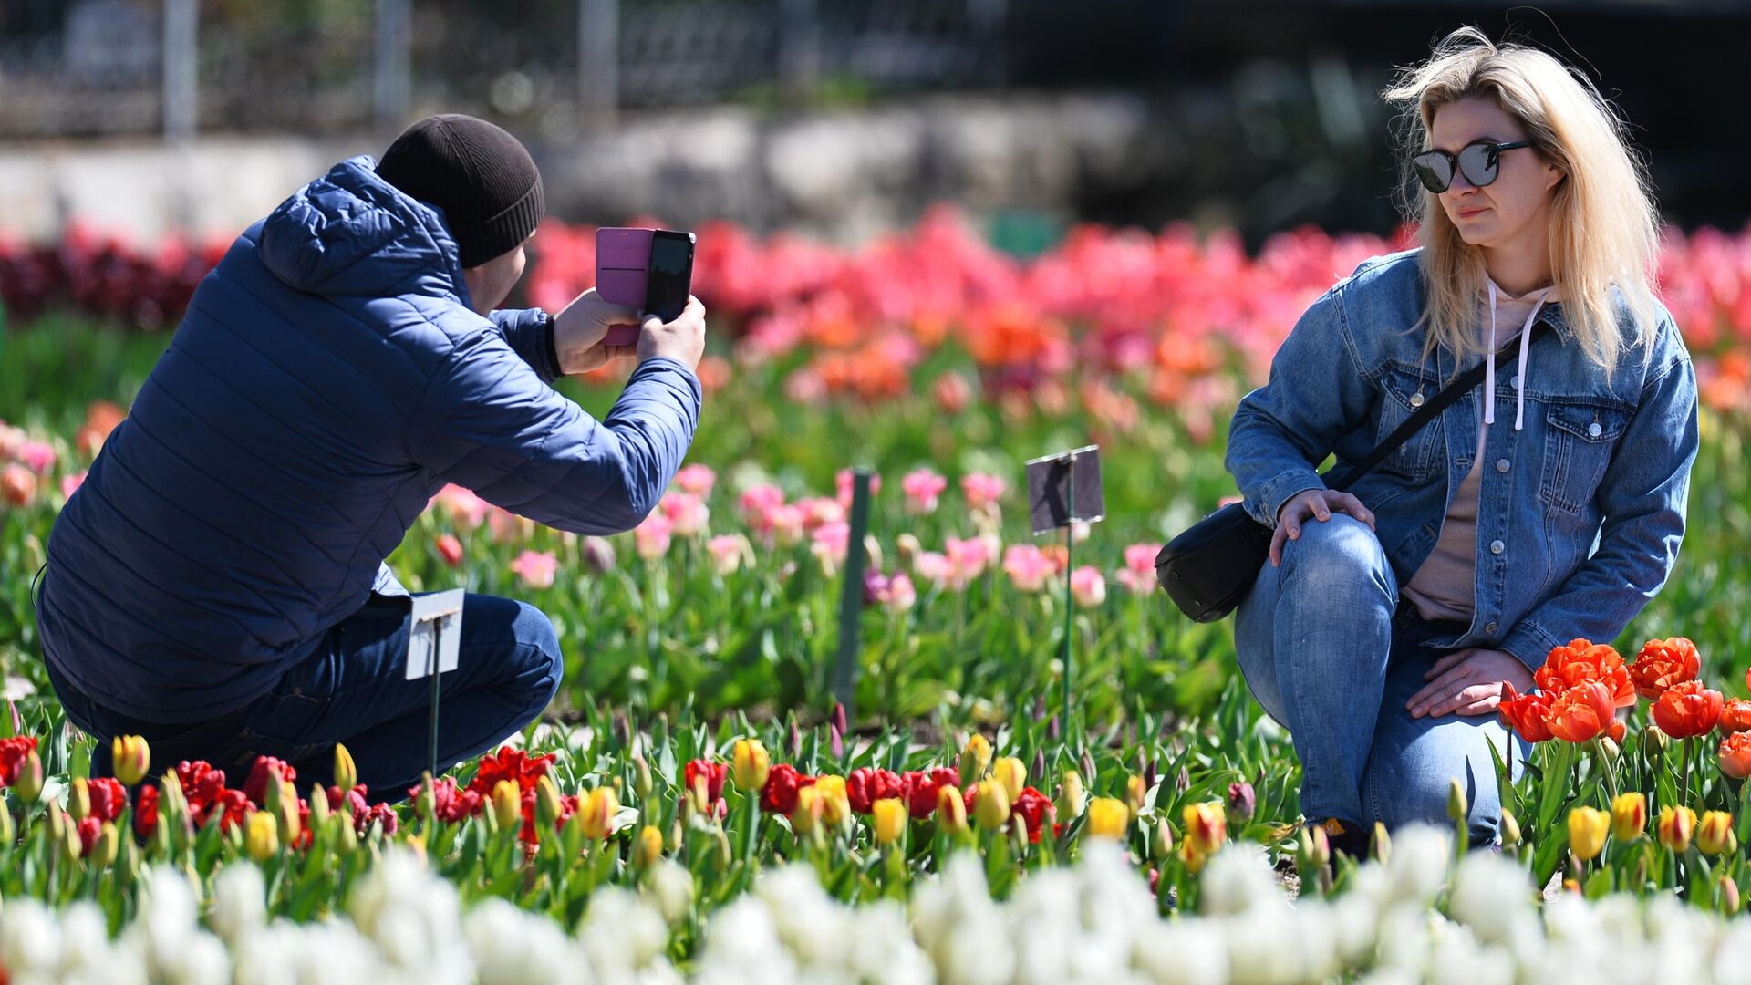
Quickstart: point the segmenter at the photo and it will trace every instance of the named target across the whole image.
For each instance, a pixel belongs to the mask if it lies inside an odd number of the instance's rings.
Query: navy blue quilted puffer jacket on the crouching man
[[[469,308],[440,210],[352,158],[201,282],[54,524],[44,655],[147,722],[247,706],[373,591],[447,482],[552,528],[630,529],[699,424],[650,359],[606,421],[548,386],[546,312]]]

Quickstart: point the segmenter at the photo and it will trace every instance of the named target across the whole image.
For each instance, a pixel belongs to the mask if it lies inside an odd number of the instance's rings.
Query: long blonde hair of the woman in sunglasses
[[[1564,172],[1551,191],[1550,261],[1565,321],[1583,351],[1609,379],[1625,342],[1613,286],[1635,324],[1635,344],[1651,349],[1660,214],[1646,163],[1586,75],[1536,47],[1497,46],[1478,28],[1460,28],[1382,96],[1403,109],[1401,195],[1406,219],[1420,226],[1429,298],[1424,359],[1438,344],[1459,354],[1483,349],[1473,328],[1485,287],[1483,254],[1460,238],[1439,196],[1417,184],[1410,167],[1410,158],[1429,147],[1436,110],[1471,96],[1515,116],[1532,149]]]

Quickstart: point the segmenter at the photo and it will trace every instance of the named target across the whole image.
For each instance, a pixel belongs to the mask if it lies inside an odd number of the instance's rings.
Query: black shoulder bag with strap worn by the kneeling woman
[[[1550,324],[1539,321],[1532,326],[1532,340]],[[1532,342],[1529,340],[1527,345]],[[1497,359],[1513,358],[1518,340],[1502,347]],[[1389,454],[1397,450],[1411,435],[1427,424],[1436,414],[1446,410],[1455,400],[1483,382],[1485,363],[1478,363],[1462,377],[1453,380],[1434,400],[1424,403],[1387,440],[1380,442],[1355,468],[1343,478],[1333,482],[1334,470],[1320,477],[1326,487],[1341,492],[1352,482],[1375,468]],[[1173,605],[1189,615],[1192,622],[1215,622],[1222,619],[1252,591],[1259,578],[1259,568],[1271,554],[1271,528],[1252,519],[1240,503],[1229,503],[1220,510],[1198,521],[1175,536],[1156,554],[1156,578],[1173,598]]]

